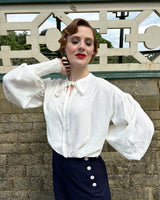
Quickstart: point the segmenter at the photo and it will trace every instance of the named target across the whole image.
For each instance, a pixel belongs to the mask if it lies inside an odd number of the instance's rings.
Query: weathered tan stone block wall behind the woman
[[[112,80],[131,93],[155,124],[152,143],[141,161],[129,161],[104,145],[112,200],[160,199],[160,81]],[[23,110],[9,103],[0,83],[0,199],[53,200],[52,150],[42,108]]]

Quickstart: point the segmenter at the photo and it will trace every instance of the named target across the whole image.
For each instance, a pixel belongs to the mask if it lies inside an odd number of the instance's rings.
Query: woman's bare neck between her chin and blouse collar
[[[70,81],[78,81],[81,78],[84,78],[89,74],[89,71],[86,68],[79,68],[79,67],[71,67],[71,73],[68,77]]]

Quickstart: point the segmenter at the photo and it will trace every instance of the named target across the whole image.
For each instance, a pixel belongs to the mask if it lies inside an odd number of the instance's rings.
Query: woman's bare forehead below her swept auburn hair
[[[92,29],[87,26],[78,26],[77,33],[74,33],[73,35],[70,35],[69,37],[74,37],[74,36],[94,39]]]

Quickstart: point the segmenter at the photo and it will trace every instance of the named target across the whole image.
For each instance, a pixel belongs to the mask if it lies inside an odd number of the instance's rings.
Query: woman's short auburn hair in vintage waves
[[[59,43],[60,43],[60,48],[59,51],[63,56],[65,55],[65,48],[67,45],[67,36],[69,35],[73,35],[75,33],[78,32],[78,26],[86,26],[89,27],[92,30],[93,33],[93,37],[94,37],[94,55],[91,59],[91,61],[94,59],[95,55],[97,54],[97,49],[98,49],[98,44],[97,44],[97,39],[96,39],[96,34],[94,32],[94,29],[92,28],[92,26],[88,23],[88,21],[81,19],[81,18],[77,18],[74,19],[62,32],[62,36],[59,39]]]

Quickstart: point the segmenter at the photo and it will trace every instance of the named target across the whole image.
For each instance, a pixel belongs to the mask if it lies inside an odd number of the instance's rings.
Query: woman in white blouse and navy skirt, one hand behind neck
[[[69,66],[61,59],[22,64],[4,76],[4,91],[9,101],[23,108],[43,105],[56,200],[110,200],[100,156],[105,140],[126,158],[140,160],[154,127],[131,95],[89,73],[97,40],[87,21],[73,20],[59,42]],[[53,72],[67,78],[41,78]]]

